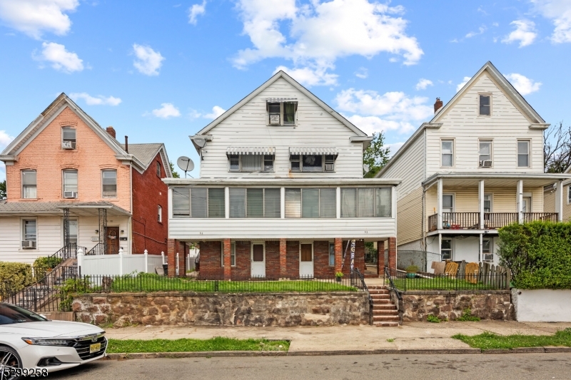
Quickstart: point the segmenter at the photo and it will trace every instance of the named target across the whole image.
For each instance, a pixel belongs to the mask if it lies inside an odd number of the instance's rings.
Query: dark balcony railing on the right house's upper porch
[[[523,222],[547,220],[557,222],[557,212],[523,212]],[[496,230],[516,223],[517,212],[484,212],[484,228]],[[428,217],[428,230],[438,230],[438,215]],[[442,230],[479,230],[480,212],[443,212]]]

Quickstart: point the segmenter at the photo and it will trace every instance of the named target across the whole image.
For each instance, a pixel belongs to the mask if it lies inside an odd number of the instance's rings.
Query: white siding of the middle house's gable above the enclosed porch
[[[266,98],[297,98],[295,128],[266,125]],[[349,140],[355,133],[282,78],[229,115],[208,134],[213,135],[213,139],[203,149],[201,178],[363,177],[363,144]],[[274,172],[229,173],[226,148],[243,146],[275,147]],[[338,148],[335,173],[290,173],[289,148],[295,146]]]

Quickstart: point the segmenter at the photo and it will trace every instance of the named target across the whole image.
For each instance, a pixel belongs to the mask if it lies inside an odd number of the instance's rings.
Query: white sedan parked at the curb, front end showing
[[[61,371],[105,356],[105,331],[91,324],[49,321],[0,302],[0,379]]]

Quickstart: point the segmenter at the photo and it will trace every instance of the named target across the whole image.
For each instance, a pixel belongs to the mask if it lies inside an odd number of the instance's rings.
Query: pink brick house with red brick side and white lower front
[[[121,144],[62,93],[0,154],[0,261],[34,262],[64,246],[91,254],[167,250],[166,148]]]

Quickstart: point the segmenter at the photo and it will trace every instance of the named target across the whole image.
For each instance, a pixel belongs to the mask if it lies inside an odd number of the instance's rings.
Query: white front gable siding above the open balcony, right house
[[[478,94],[492,94],[492,115],[478,115]],[[438,172],[522,172],[543,173],[542,130],[530,129],[530,120],[482,73],[438,123],[427,129],[427,176]],[[440,166],[440,140],[452,138],[454,168]],[[492,140],[493,168],[478,168],[478,139]],[[517,140],[531,140],[531,168],[517,168]]]

